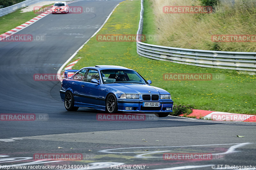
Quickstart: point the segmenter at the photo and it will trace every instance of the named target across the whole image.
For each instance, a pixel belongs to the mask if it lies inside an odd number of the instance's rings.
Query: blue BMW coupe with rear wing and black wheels
[[[68,77],[69,72],[75,72]],[[152,113],[166,117],[172,112],[169,92],[151,86],[132,69],[96,65],[80,70],[66,70],[60,97],[68,111],[89,107],[108,113]]]

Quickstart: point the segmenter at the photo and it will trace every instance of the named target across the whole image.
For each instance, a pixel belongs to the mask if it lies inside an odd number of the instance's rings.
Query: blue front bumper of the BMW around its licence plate
[[[159,102],[159,107],[143,107],[143,102]],[[167,107],[173,107],[172,100],[158,100],[158,101],[144,101],[144,100],[122,100],[117,99],[118,111],[121,112],[143,112],[143,113],[163,113],[172,112],[171,110],[166,110]],[[125,107],[132,107],[132,110],[125,110]]]

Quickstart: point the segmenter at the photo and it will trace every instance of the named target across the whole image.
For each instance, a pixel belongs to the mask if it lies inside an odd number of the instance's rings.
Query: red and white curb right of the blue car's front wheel
[[[234,121],[234,122],[256,122],[256,115],[245,115],[228,112],[215,112],[209,110],[193,109],[189,117],[196,117],[197,119],[206,119],[214,121]]]

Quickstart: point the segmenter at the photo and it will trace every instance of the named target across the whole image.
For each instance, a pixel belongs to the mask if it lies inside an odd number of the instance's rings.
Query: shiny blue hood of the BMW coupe
[[[170,94],[164,89],[146,84],[113,83],[106,85],[126,94]]]

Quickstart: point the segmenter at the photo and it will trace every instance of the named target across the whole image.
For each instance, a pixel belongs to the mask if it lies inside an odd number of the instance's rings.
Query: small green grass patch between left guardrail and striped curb
[[[46,7],[46,6],[50,6],[50,5],[44,5],[43,7]],[[20,13],[20,12],[21,12],[21,9],[14,11],[10,14],[4,15],[3,17],[0,17],[0,34],[6,33],[7,31],[10,31],[11,29],[17,26],[20,26],[21,24],[24,24],[30,19],[40,15],[40,14],[35,14],[33,11],[24,12],[24,13]]]

